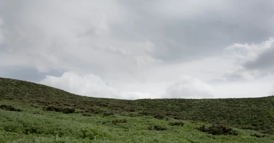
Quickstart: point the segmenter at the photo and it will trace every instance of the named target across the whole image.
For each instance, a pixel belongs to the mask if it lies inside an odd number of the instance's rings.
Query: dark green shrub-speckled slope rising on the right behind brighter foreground
[[[274,96],[238,99],[139,99],[134,105],[164,111],[176,111],[208,122],[226,122],[239,128],[251,128],[272,134]]]

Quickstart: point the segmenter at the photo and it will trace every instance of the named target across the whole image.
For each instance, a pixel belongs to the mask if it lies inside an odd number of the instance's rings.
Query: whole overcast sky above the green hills
[[[272,0],[0,0],[0,77],[114,99],[274,95]]]

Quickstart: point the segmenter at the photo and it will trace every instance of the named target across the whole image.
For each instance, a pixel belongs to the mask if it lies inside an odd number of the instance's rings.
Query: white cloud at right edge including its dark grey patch
[[[273,43],[271,37],[260,44],[233,44],[224,48],[235,59],[235,69],[223,74],[224,81],[251,81],[269,76],[273,68],[271,61],[274,60]]]

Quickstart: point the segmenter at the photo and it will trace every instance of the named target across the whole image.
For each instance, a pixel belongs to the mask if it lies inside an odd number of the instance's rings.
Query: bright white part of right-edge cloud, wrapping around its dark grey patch
[[[258,78],[269,75],[267,71],[247,70],[245,64],[254,61],[258,56],[264,53],[274,43],[274,38],[263,41],[260,44],[232,44],[224,48],[225,55],[231,57],[234,67],[227,69],[222,76],[217,77],[213,81],[219,80],[223,82],[249,81],[254,82]],[[226,65],[226,64],[224,64]]]

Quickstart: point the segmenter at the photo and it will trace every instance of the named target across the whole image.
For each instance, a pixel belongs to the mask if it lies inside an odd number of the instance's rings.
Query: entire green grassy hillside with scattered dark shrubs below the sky
[[[274,96],[93,98],[0,78],[4,142],[274,142]]]

